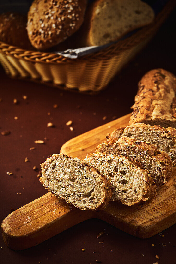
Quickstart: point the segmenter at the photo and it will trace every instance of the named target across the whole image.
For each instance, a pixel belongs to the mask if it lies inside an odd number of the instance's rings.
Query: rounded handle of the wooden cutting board
[[[90,211],[81,211],[48,192],[8,215],[1,225],[2,235],[9,248],[21,250],[90,218]]]

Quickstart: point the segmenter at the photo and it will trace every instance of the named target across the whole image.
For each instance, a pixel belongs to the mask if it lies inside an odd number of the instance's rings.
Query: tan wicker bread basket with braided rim
[[[170,0],[152,24],[97,53],[70,59],[0,42],[0,62],[6,73],[13,78],[72,91],[98,92],[150,41],[174,9],[175,2]]]

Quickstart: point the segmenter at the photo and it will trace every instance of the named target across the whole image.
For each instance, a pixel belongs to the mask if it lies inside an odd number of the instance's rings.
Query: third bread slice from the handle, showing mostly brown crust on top
[[[159,151],[153,144],[123,136],[110,138],[95,148],[95,152],[124,155],[140,162],[150,172],[157,187],[162,186],[172,175],[172,161],[167,153]]]

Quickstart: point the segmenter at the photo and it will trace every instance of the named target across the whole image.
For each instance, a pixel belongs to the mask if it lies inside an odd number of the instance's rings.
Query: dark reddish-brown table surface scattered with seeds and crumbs
[[[16,210],[47,192],[33,166],[40,168],[40,163],[48,155],[59,153],[67,140],[130,112],[137,82],[146,71],[160,67],[176,74],[175,16],[172,13],[147,48],[96,96],[12,80],[0,68],[0,131],[11,131],[8,136],[0,135],[1,221],[11,208]],[[23,95],[27,95],[27,100]],[[13,104],[14,98],[18,105]],[[59,107],[54,109],[54,104]],[[68,120],[73,121],[73,131],[66,126]],[[48,122],[53,122],[55,128],[47,128]],[[45,137],[45,145],[34,144],[34,140]],[[35,150],[29,150],[31,147]],[[24,162],[25,157],[29,162]],[[8,176],[7,171],[13,175]],[[104,221],[91,219],[23,251],[7,248],[1,235],[0,263],[175,263],[175,230],[174,225],[162,232],[164,237],[158,234],[139,239]],[[100,231],[105,234],[97,238]]]

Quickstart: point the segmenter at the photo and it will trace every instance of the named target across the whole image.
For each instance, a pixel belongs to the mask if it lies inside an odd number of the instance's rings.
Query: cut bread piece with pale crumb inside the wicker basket
[[[96,0],[87,11],[83,26],[86,45],[110,43],[153,20],[154,11],[140,0]]]

